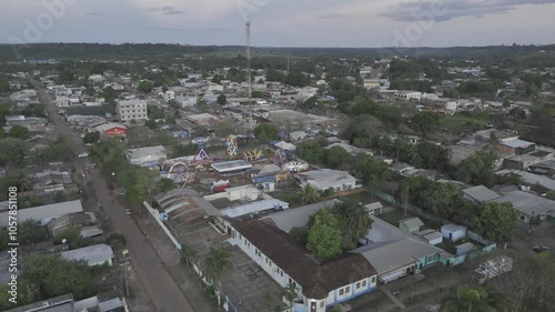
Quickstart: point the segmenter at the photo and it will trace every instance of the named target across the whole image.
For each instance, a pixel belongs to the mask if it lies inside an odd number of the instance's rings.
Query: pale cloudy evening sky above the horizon
[[[0,0],[0,42],[555,43],[555,0]]]

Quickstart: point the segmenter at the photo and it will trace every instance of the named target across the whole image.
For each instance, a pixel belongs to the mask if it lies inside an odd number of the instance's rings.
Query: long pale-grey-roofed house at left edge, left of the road
[[[68,213],[82,212],[83,207],[80,200],[59,202],[53,204],[39,205],[18,210],[18,223],[27,220],[34,220],[40,225],[46,225],[51,220],[60,218]],[[9,212],[0,213],[0,228],[8,227]]]

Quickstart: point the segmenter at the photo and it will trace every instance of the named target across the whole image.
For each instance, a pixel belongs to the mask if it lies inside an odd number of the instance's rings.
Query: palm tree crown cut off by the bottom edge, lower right
[[[503,311],[503,298],[485,288],[455,288],[443,300],[440,312]]]

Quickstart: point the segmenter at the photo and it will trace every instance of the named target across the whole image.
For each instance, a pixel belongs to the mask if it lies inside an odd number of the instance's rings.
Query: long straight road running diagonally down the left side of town
[[[39,95],[47,104],[51,120],[54,121],[58,132],[65,133],[67,140],[72,144],[75,154],[85,151],[80,135],[58,118],[58,111],[43,89],[38,89]],[[83,172],[83,160],[75,159],[77,172]],[[113,202],[114,195],[109,192],[107,180],[99,173],[91,174],[92,188],[97,193],[100,204],[113,223],[117,232],[125,235],[127,248],[131,256],[131,264],[135,268],[147,292],[158,312],[194,311],[188,299],[183,295],[178,284],[162,265],[157,252],[147,242],[138,225],[124,213],[124,207]]]

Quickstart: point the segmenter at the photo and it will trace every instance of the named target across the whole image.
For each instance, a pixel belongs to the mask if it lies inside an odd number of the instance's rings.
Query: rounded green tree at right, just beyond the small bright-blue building
[[[487,202],[472,221],[476,232],[485,239],[506,243],[518,230],[518,211],[509,202]]]

